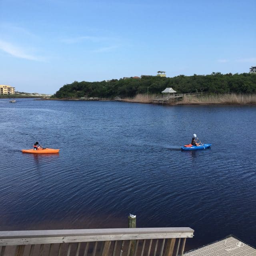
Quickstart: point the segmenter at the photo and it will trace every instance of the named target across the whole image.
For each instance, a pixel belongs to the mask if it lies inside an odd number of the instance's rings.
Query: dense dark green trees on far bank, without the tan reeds
[[[54,98],[115,96],[132,97],[138,93],[159,94],[165,88],[172,87],[177,93],[212,92],[212,93],[255,93],[256,74],[221,74],[175,76],[172,78],[148,76],[140,79],[129,78],[108,82],[73,82],[66,84],[53,95]]]

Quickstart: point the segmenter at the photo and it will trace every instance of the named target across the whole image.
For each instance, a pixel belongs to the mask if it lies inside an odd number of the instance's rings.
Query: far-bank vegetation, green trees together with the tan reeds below
[[[181,93],[203,92],[197,97],[184,97],[176,104],[256,104],[256,74],[221,74],[175,76],[166,78],[148,76],[140,79],[113,79],[102,82],[73,82],[66,84],[53,98],[121,97],[128,102],[152,103],[167,88]]]

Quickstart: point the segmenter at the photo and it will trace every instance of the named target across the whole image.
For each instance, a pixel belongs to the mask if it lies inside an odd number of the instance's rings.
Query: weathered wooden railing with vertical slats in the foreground
[[[1,231],[0,256],[178,256],[191,228]]]

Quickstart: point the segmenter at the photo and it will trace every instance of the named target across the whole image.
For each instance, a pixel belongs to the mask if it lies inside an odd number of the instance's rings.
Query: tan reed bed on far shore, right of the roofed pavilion
[[[256,94],[209,94],[188,96],[176,104],[256,104]]]

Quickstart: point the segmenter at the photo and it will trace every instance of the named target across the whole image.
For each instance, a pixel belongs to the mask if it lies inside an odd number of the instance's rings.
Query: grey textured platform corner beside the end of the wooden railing
[[[184,256],[256,256],[256,249],[234,236],[192,250]]]

